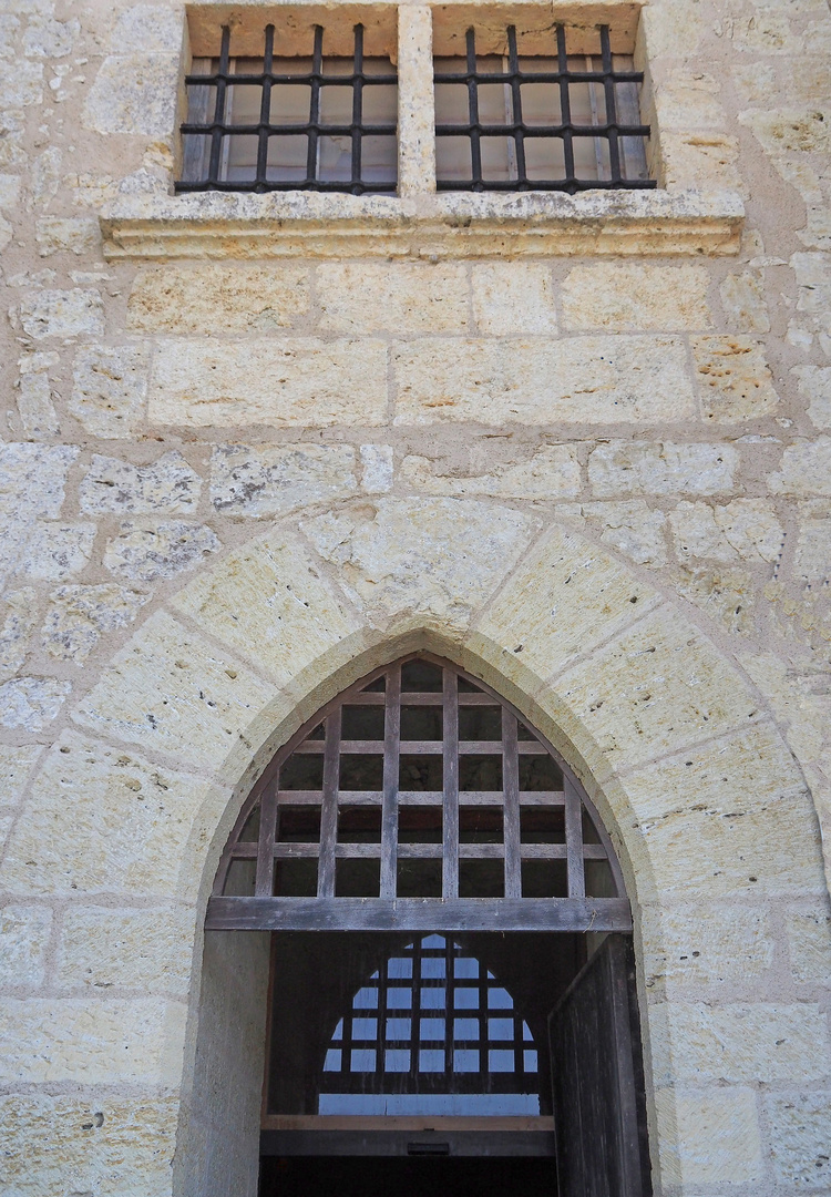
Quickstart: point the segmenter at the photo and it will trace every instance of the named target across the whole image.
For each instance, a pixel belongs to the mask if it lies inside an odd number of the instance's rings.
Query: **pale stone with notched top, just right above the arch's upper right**
[[[669,522],[681,559],[775,561],[784,541],[776,512],[763,499],[734,499],[726,506],[683,502]]]

